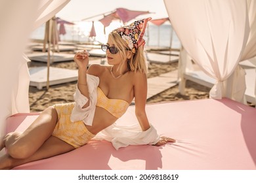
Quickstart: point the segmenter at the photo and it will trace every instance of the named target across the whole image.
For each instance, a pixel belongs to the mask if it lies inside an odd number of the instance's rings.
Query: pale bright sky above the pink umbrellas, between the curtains
[[[152,19],[158,19],[168,17],[163,0],[71,0],[56,16],[70,22],[77,22],[91,16],[110,12],[116,8],[153,12],[137,18],[150,16]],[[95,20],[99,20],[102,17],[97,16]]]

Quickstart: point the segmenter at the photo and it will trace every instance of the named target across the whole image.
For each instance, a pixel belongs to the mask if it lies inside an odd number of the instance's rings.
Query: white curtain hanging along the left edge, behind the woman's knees
[[[28,59],[23,55],[30,34],[69,1],[0,1],[0,138],[4,134],[8,116],[18,112],[30,112]]]

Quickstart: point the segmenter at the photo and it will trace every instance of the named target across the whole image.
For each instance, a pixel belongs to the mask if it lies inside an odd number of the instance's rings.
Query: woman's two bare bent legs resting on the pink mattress
[[[23,133],[7,134],[1,143],[5,146],[7,154],[0,158],[0,169],[10,169],[30,161],[74,150],[70,144],[52,136],[57,119],[55,108],[49,107],[41,112]]]

